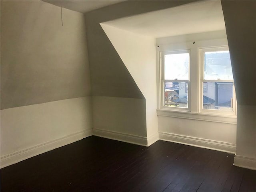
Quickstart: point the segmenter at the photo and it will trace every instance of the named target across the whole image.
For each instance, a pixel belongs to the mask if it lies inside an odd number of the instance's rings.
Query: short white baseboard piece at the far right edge
[[[256,159],[235,154],[234,166],[256,170]]]

